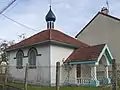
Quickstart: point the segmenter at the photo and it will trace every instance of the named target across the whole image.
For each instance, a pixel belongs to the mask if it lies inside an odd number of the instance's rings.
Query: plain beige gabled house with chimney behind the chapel
[[[120,64],[120,19],[109,15],[107,8],[102,8],[76,38],[89,45],[106,43],[117,64]]]

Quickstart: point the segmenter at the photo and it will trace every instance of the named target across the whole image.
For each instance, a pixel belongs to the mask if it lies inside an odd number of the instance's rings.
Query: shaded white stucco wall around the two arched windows
[[[24,48],[22,49],[24,52],[24,56],[27,56],[28,51],[30,48]],[[44,46],[36,46],[38,54],[42,54],[41,56],[36,57],[36,69],[29,69],[28,70],[28,81],[31,81],[34,83],[36,80],[43,81],[43,83],[48,83],[50,81],[50,48],[49,45]],[[12,77],[17,79],[24,79],[24,72],[25,72],[25,65],[28,63],[28,57],[25,57],[23,59],[23,69],[17,69],[16,68],[16,57],[17,51],[11,51],[9,53],[9,73],[12,75]]]

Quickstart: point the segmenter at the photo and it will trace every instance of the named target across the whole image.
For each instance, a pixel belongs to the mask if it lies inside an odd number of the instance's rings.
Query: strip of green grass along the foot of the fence
[[[17,88],[23,89],[23,84],[19,83],[8,83],[7,85],[14,86]],[[28,90],[55,90],[55,87],[47,87],[47,86],[32,86],[28,85]],[[83,87],[83,86],[63,86],[60,87],[60,90],[111,90],[108,87]],[[119,90],[119,89],[118,89]]]

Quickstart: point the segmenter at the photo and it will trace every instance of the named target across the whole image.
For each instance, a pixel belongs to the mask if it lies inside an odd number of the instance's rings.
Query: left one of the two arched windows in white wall
[[[18,69],[23,68],[23,56],[24,56],[24,53],[22,50],[19,50],[16,54],[16,67]]]

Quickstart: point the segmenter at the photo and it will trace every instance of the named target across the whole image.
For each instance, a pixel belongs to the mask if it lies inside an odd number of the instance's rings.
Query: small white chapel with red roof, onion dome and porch
[[[47,29],[7,49],[9,74],[24,80],[24,66],[29,64],[28,81],[55,85],[56,62],[60,62],[60,84],[100,86],[110,83],[108,66],[113,59],[106,44],[89,46],[54,29],[56,18],[51,8],[46,15]],[[99,78],[97,66],[103,65]],[[38,68],[40,66],[40,68]],[[37,73],[42,75],[36,78]],[[66,78],[67,77],[67,78]],[[67,83],[66,83],[67,82]]]

